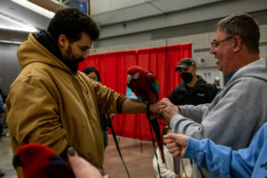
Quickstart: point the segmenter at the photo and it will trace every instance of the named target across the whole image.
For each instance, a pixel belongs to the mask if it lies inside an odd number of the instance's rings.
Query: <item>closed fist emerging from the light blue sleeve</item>
[[[189,136],[183,134],[166,134],[163,136],[163,139],[166,143],[166,148],[174,157],[183,157]]]

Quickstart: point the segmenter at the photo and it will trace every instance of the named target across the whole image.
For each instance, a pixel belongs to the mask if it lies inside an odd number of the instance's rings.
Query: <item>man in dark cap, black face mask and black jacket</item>
[[[175,71],[179,71],[182,82],[174,88],[174,91],[168,96],[169,100],[175,105],[185,104],[204,104],[214,100],[217,87],[197,75],[198,66],[196,61],[190,58],[184,58],[178,62]]]

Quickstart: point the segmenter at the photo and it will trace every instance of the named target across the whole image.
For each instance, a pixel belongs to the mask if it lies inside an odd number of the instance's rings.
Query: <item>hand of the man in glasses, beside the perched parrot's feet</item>
[[[164,98],[158,103],[158,109],[160,114],[164,117],[166,122],[170,122],[172,117],[176,114],[180,114],[180,110],[169,99]]]

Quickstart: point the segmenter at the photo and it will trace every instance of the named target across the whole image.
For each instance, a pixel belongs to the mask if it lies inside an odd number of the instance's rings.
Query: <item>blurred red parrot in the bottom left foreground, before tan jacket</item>
[[[24,178],[74,178],[74,174],[55,151],[41,143],[28,143],[17,150],[13,166],[22,167]]]

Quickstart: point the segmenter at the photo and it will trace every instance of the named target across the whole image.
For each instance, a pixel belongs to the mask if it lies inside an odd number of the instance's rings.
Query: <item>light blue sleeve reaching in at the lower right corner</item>
[[[215,177],[251,177],[266,137],[267,124],[255,134],[247,149],[238,151],[215,145],[209,139],[197,141],[190,138],[184,158],[193,158],[195,164],[206,168]]]

